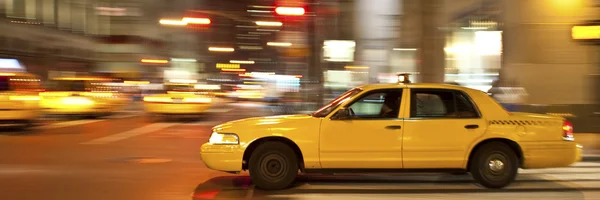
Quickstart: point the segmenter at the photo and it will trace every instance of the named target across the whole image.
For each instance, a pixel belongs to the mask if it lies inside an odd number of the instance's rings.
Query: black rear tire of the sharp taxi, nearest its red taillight
[[[515,180],[519,170],[516,153],[500,142],[481,146],[470,162],[471,175],[477,183],[487,188],[506,187]]]

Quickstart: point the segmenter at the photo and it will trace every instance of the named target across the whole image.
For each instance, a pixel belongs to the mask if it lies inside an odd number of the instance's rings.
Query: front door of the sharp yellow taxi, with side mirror
[[[343,106],[353,113],[350,118],[324,119],[322,167],[402,168],[402,94],[401,88],[367,91]]]

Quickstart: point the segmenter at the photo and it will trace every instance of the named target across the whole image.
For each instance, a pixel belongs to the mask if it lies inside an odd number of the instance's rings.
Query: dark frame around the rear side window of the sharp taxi
[[[427,91],[427,92],[450,92],[452,93],[452,100],[453,100],[453,105],[454,105],[454,110],[457,110],[457,95],[463,95],[468,103],[471,103],[471,105],[473,105],[473,109],[475,109],[475,113],[477,114],[477,116],[475,117],[417,117],[417,116],[412,116],[412,106],[414,104],[416,104],[415,100],[415,95],[416,93],[420,92],[420,91]],[[409,105],[408,108],[406,109],[408,112],[408,118],[409,119],[481,119],[483,118],[483,115],[481,114],[481,111],[479,110],[479,107],[477,106],[477,104],[475,103],[475,101],[473,101],[473,98],[471,98],[471,96],[469,96],[466,92],[461,91],[461,90],[457,90],[457,89],[442,89],[442,88],[411,88],[410,89],[410,93],[409,93]]]

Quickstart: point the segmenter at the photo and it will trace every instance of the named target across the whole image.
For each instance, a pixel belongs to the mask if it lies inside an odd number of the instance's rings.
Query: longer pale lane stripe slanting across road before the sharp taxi
[[[113,134],[113,135],[109,135],[109,136],[105,136],[105,137],[101,137],[101,138],[96,138],[87,142],[82,142],[80,144],[108,144],[111,142],[116,142],[119,140],[124,140],[127,138],[131,138],[131,137],[135,137],[135,136],[140,136],[143,134],[147,134],[147,133],[152,133],[161,129],[165,129],[171,126],[175,126],[181,123],[154,123],[154,124],[150,124],[150,125],[146,125],[146,126],[142,126],[139,128],[135,128],[133,130],[129,130],[129,131],[125,131],[125,132],[121,132],[121,133],[117,133],[117,134]]]

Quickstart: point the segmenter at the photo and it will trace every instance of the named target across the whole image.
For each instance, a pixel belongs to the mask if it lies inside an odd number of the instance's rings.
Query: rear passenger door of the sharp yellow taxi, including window
[[[411,89],[404,117],[404,168],[461,168],[486,129],[476,105],[458,90]]]

